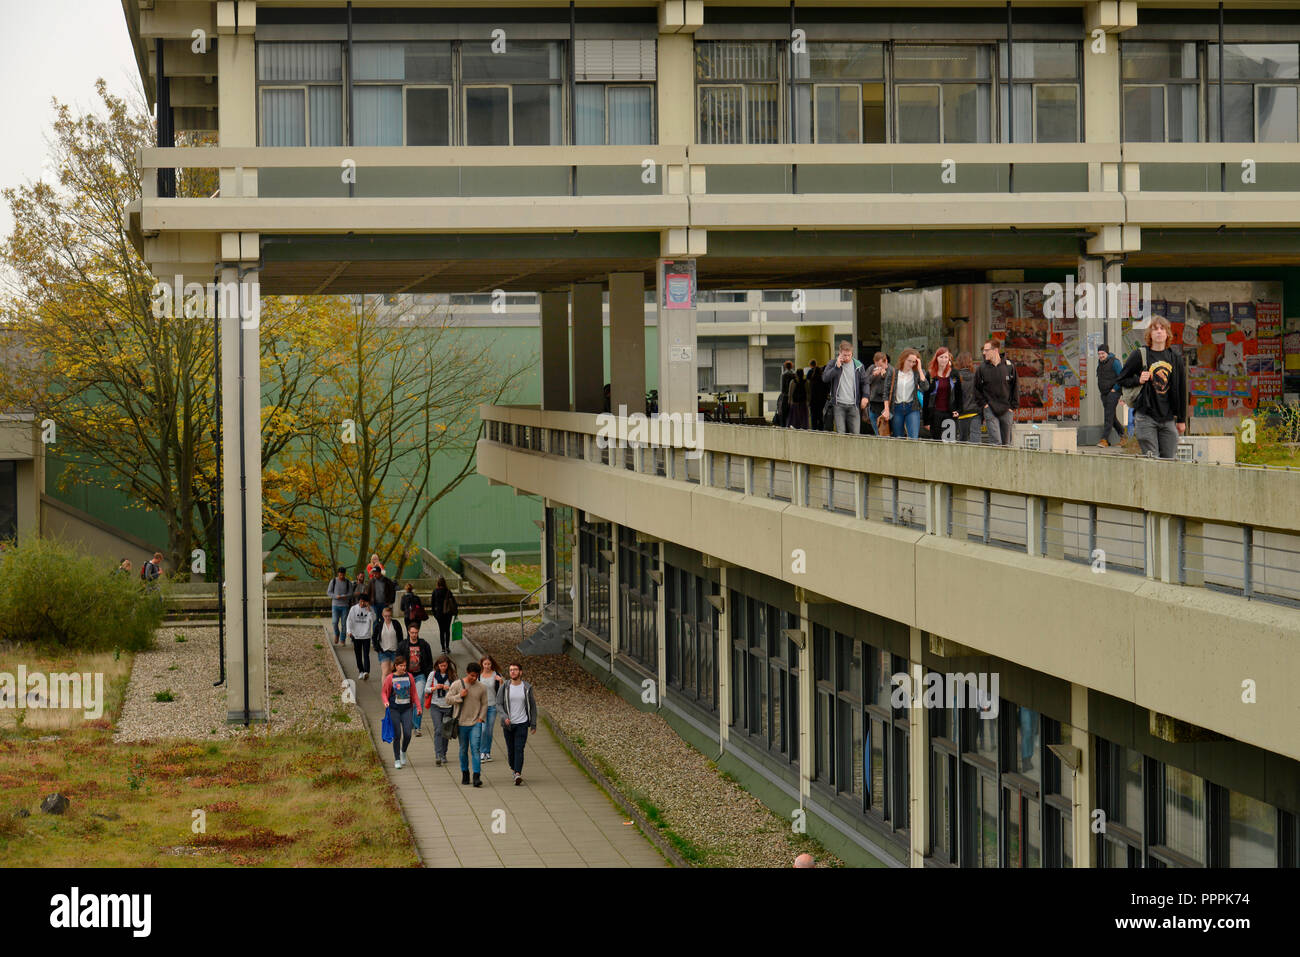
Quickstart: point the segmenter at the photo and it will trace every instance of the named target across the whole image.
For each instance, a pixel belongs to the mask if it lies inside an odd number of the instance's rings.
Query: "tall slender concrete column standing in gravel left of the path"
[[[222,246],[239,247],[238,234]],[[226,579],[226,719],[266,720],[261,567],[261,376],[257,273],[221,269],[222,553]],[[250,308],[252,307],[252,308]],[[251,313],[251,315],[250,315]],[[243,321],[240,321],[243,317]],[[242,328],[243,326],[243,328]]]

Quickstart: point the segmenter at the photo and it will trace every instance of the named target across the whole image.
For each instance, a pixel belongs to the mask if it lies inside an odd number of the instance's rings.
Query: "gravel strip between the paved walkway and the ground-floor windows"
[[[469,631],[472,628],[472,631]],[[515,655],[516,624],[467,625],[469,637],[502,666]],[[567,655],[530,655],[525,674],[538,705],[582,752],[611,767],[625,793],[653,802],[667,827],[702,848],[706,865],[789,867],[807,850],[820,867],[842,862],[806,837],[790,833],[788,819],[772,814],[753,794],[727,780],[653,711],[638,711]]]

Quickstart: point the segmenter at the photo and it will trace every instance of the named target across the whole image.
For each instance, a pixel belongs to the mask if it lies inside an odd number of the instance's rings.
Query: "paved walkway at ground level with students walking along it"
[[[326,638],[343,674],[356,677],[351,645]],[[458,642],[464,644],[464,642]],[[434,646],[437,654],[437,646]],[[468,651],[452,653],[464,674]],[[393,745],[380,737],[384,705],[380,701],[380,666],[367,681],[356,683],[356,703],[365,715],[370,737],[396,788],[398,801],[428,867],[666,867],[667,862],[623,814],[597,789],[543,724],[529,735],[524,752],[524,784],[514,785],[506,761],[506,742],[497,722],[493,759],[482,766],[481,788],[460,783],[458,745],[447,748],[450,763],[436,767],[433,733],[411,740],[407,763],[393,768]],[[538,696],[545,694],[540,690]],[[494,833],[497,823],[499,831]]]

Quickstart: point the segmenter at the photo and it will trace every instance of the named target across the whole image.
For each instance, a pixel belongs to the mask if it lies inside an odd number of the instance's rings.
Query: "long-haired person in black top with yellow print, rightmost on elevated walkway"
[[[1119,371],[1119,384],[1132,395],[1134,436],[1143,455],[1173,459],[1178,437],[1187,430],[1187,374],[1173,345],[1174,329],[1164,316],[1152,316],[1147,345],[1135,348]]]

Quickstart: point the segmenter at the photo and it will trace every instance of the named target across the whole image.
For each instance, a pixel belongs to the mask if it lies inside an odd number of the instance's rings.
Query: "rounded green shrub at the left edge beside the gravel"
[[[139,577],[53,538],[27,537],[0,551],[0,640],[79,651],[139,651],[162,622],[164,583]]]

